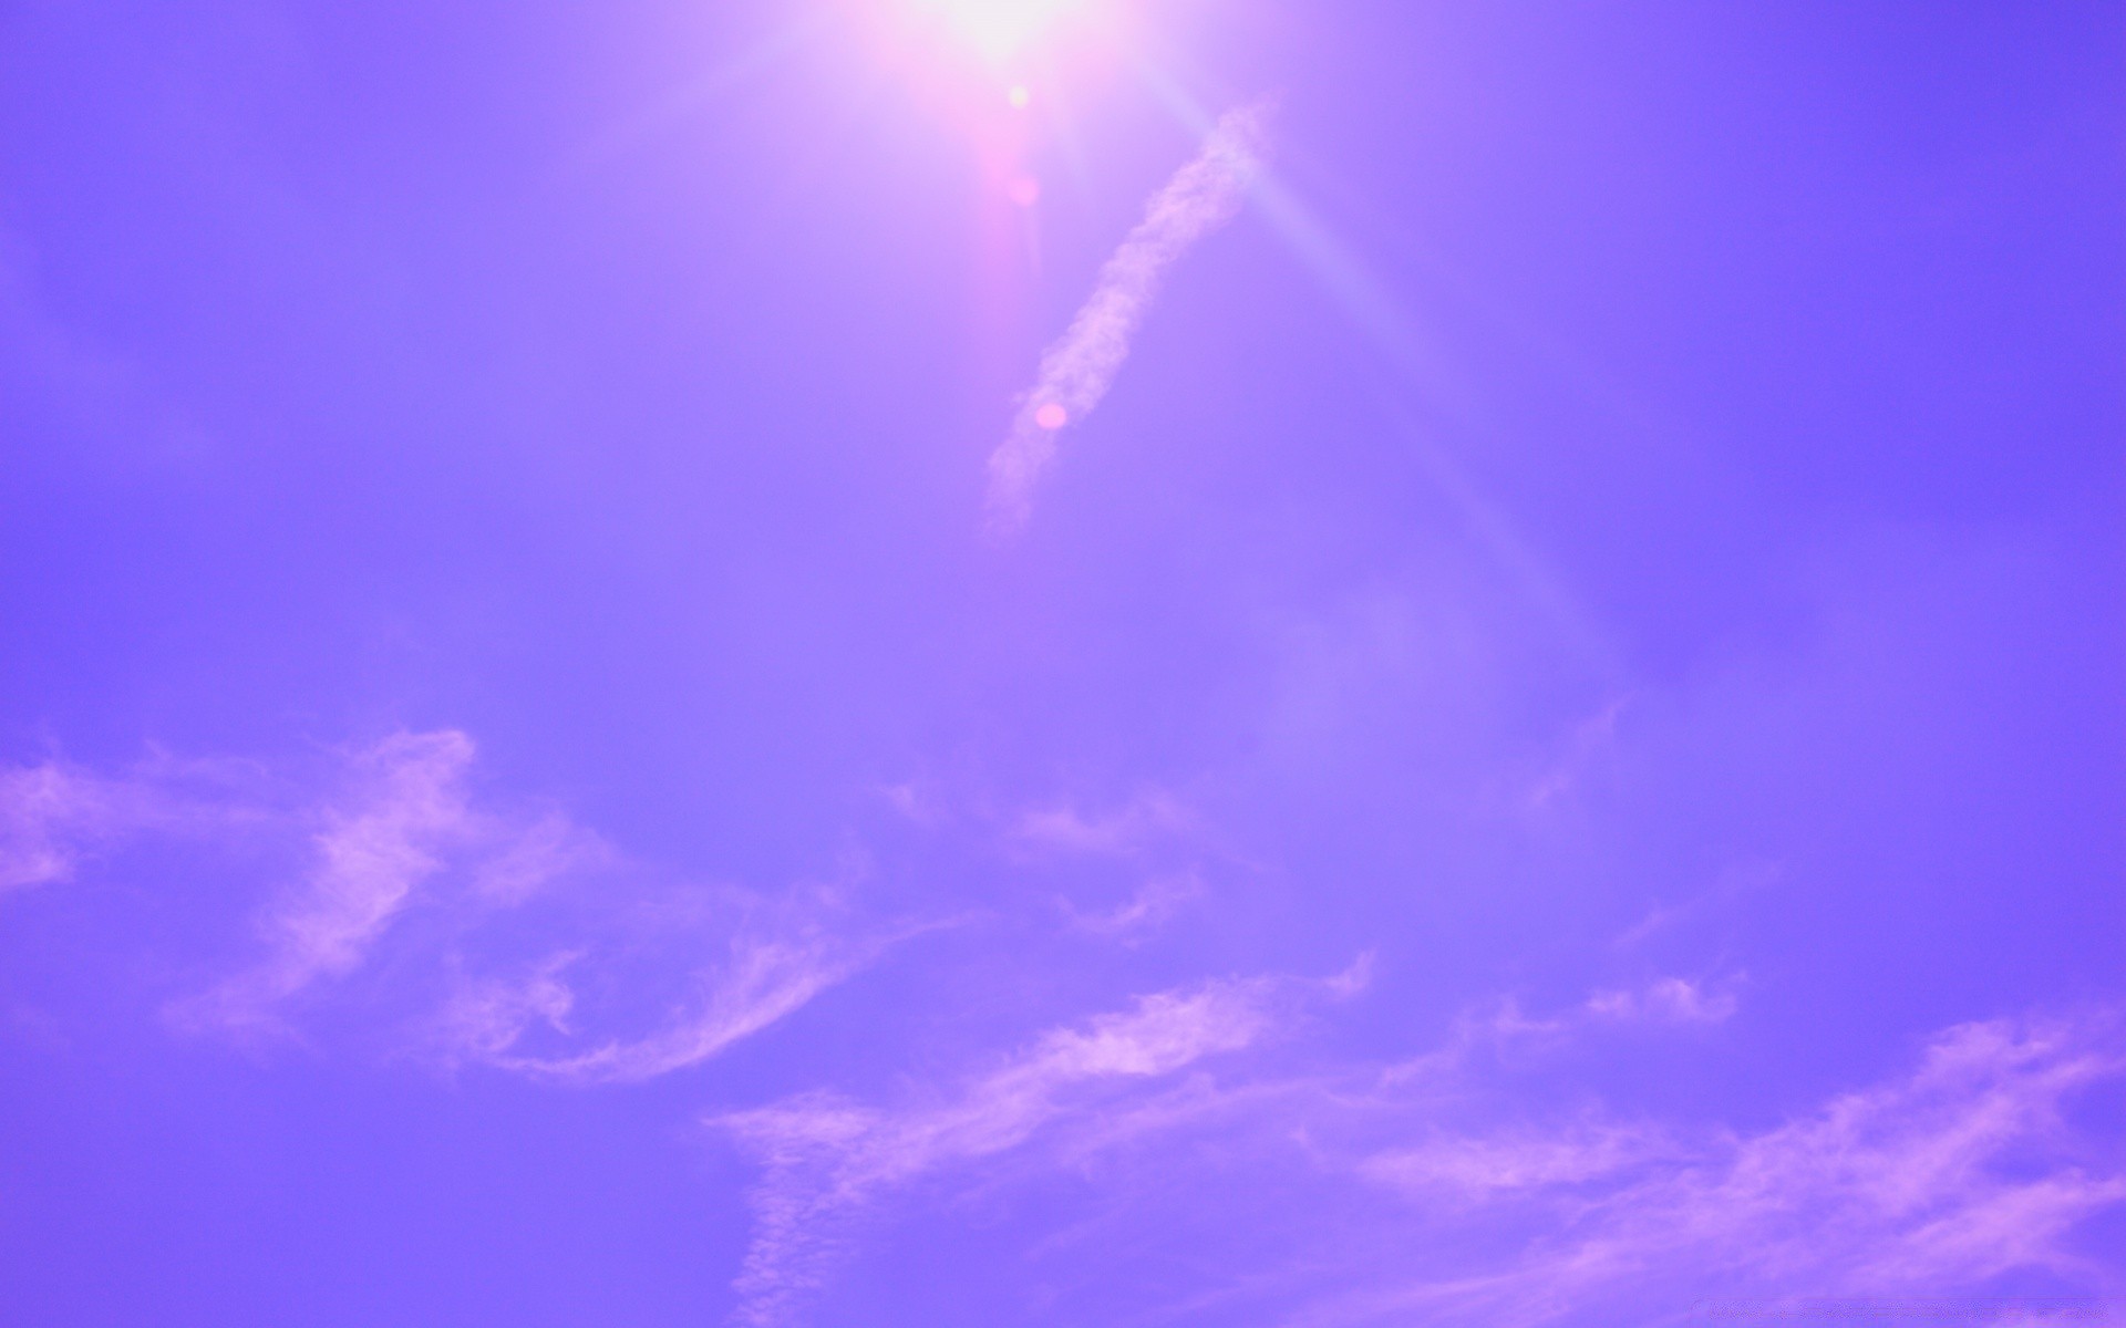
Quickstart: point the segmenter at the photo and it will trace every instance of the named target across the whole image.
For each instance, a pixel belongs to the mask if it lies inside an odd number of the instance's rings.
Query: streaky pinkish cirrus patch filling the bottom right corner
[[[1386,1150],[1361,1175],[1433,1211],[1441,1192],[1505,1207],[1520,1252],[1327,1296],[1299,1322],[1616,1322],[1663,1303],[1680,1317],[1707,1294],[1952,1294],[2028,1271],[2100,1286],[2071,1235],[2126,1203],[2126,1171],[2075,1139],[2064,1107],[2120,1077],[2109,1016],[1990,1020],[1935,1037],[1909,1075],[1754,1135],[1573,1122]]]

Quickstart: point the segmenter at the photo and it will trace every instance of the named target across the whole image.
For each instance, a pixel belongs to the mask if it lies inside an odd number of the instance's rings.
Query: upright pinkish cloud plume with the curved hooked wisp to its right
[[[517,929],[514,941],[497,937],[502,916],[521,914],[557,882],[600,871],[610,880],[621,858],[557,810],[523,816],[476,805],[468,790],[474,754],[472,739],[449,729],[353,752],[351,793],[319,814],[310,869],[259,920],[266,956],[174,1005],[179,1024],[279,1028],[289,1001],[353,975],[410,909],[427,905],[453,924],[408,941],[410,963],[400,967],[440,965],[455,980],[438,1009],[412,1018],[423,1056],[557,1084],[625,1084],[716,1056],[846,980],[887,943],[838,909],[833,890],[772,901],[727,888],[708,907],[659,909],[659,890],[646,882],[610,907],[578,903]],[[657,929],[685,943],[629,943],[619,935],[627,907],[648,909]],[[723,960],[702,963],[697,954],[719,948],[719,937]],[[512,958],[523,943],[542,946],[529,969]],[[497,969],[514,975],[497,977]],[[585,977],[602,1001],[578,997]],[[682,992],[676,1014],[619,1035],[634,1022],[627,1007],[653,1001],[653,990]]]

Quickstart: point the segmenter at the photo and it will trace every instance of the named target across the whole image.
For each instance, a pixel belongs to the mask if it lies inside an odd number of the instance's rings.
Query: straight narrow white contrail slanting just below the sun
[[[1239,210],[1242,189],[1261,161],[1267,119],[1267,102],[1218,119],[1203,151],[1152,195],[1144,221],[1099,270],[1093,295],[1063,338],[1042,353],[1040,380],[1018,404],[1010,438],[989,457],[991,531],[1025,525],[1033,482],[1054,457],[1057,433],[1108,395],[1167,266]]]

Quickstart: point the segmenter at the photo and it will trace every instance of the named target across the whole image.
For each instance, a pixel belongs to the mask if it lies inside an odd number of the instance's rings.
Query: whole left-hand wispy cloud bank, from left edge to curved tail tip
[[[359,1011],[400,1052],[559,1084],[708,1060],[908,935],[840,886],[693,890],[557,807],[476,797],[478,752],[457,729],[323,756],[0,769],[0,888],[155,835],[240,848],[227,856],[244,871],[293,863],[259,886],[255,958],[166,1003],[172,1026],[257,1039]]]

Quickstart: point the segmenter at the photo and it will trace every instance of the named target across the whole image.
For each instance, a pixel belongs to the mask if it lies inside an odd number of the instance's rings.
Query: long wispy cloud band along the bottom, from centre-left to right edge
[[[1305,990],[1348,994],[1333,988]],[[1424,1073],[1278,1073],[1290,1060],[1265,1043],[1297,1026],[1295,990],[1165,992],[899,1107],[810,1094],[714,1118],[763,1167],[736,1320],[808,1322],[872,1226],[974,1196],[1048,1205],[1057,1230],[1027,1241],[1025,1277],[1061,1260],[1089,1300],[1050,1311],[1084,1320],[1093,1288],[1127,1279],[1103,1262],[1120,1252],[1201,1275],[1133,1300],[1178,1322],[1680,1324],[1705,1296],[1984,1296],[2018,1275],[2117,1290],[2083,1232],[2126,1205],[2126,1158],[2075,1124],[2081,1094],[2126,1082],[2113,1016],[1947,1028],[1907,1071],[1731,1128],[1616,1113],[1552,1079],[1529,1092],[1463,1045],[1526,1026],[1599,1045],[1622,1035],[1599,999],[1478,1020],[1490,1031],[1450,1035]],[[1633,990],[1633,1018],[1697,1022],[1656,1009],[1671,988]],[[1057,1211],[1061,1177],[1080,1201]]]

